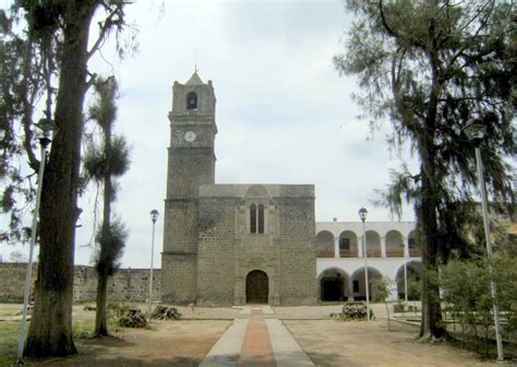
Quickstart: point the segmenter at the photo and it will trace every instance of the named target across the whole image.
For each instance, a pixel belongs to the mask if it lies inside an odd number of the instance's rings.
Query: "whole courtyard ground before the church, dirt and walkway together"
[[[88,339],[86,335],[88,328],[93,325],[95,312],[84,310],[84,306],[74,306],[73,322],[79,354],[67,358],[27,360],[26,366],[494,365],[492,360],[483,360],[477,354],[458,347],[416,341],[418,325],[414,324],[393,321],[392,331],[388,331],[382,304],[373,305],[376,318],[370,323],[330,318],[330,313],[340,311],[340,305],[200,307],[194,310],[179,307],[183,315],[180,321],[153,321],[151,330],[112,327],[113,336],[99,340]],[[142,309],[146,309],[144,305]],[[15,357],[20,310],[21,305],[0,305],[0,366],[10,366]],[[248,333],[244,341],[239,342],[231,339],[229,332],[242,322],[248,323]],[[250,339],[252,325],[260,327],[261,322],[268,327],[276,322],[289,335],[274,338],[269,327],[270,339],[267,338],[267,331],[265,340],[260,336]],[[221,343],[225,335],[230,336],[226,338],[226,346]],[[245,352],[249,342],[251,352]],[[286,347],[289,343],[297,344],[299,350],[296,350],[296,345],[294,350]],[[242,355],[214,356],[214,351],[221,351],[221,345],[227,350],[240,351]],[[252,356],[245,359],[244,354],[249,353]]]

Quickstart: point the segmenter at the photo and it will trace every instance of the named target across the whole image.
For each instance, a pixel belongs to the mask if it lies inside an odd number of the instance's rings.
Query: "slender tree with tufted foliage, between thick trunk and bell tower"
[[[123,137],[113,135],[113,125],[117,118],[117,81],[115,78],[99,79],[95,83],[98,98],[89,108],[89,118],[101,129],[101,143],[96,144],[92,139],[87,144],[84,156],[84,170],[87,177],[98,183],[104,183],[103,224],[97,234],[98,250],[95,257],[97,271],[97,307],[95,315],[95,336],[107,336],[106,304],[108,297],[108,279],[113,275],[119,264],[117,260],[128,237],[120,221],[111,221],[111,203],[116,197],[115,178],[122,176],[129,169],[129,149]]]

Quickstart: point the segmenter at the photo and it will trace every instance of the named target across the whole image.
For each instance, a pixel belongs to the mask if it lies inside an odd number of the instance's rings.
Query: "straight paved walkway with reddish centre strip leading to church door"
[[[269,306],[247,306],[208,352],[202,367],[314,366]]]

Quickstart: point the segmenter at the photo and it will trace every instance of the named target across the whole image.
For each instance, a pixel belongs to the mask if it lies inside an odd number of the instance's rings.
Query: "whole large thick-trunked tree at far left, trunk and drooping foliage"
[[[0,42],[0,123],[5,131],[0,175],[10,181],[2,205],[12,213],[16,212],[14,188],[25,180],[15,158],[26,155],[34,171],[40,164],[33,151],[34,113],[39,98],[45,97],[45,114],[39,121],[56,128],[43,180],[39,267],[26,355],[64,356],[76,352],[71,317],[75,222],[81,213],[76,199],[83,102],[95,80],[87,62],[110,31],[124,27],[123,8],[123,1],[17,0],[10,16],[0,12],[4,36]],[[92,20],[101,12],[105,17],[98,23],[98,37],[88,48]],[[15,23],[17,26],[13,26]],[[14,31],[19,28],[22,32]],[[23,132],[21,140],[16,138],[19,131]],[[31,201],[31,188],[17,192]],[[12,227],[19,225],[16,218]]]

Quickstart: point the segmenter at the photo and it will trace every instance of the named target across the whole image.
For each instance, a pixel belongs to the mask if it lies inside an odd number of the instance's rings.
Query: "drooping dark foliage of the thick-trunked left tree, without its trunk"
[[[136,31],[124,22],[125,2],[91,0],[81,7],[83,14],[99,19],[98,37],[84,50],[86,61],[112,33],[120,57],[136,50]],[[70,61],[63,58],[64,32],[71,16],[82,16],[72,15],[72,8],[65,0],[16,0],[0,9],[0,213],[9,216],[5,235],[12,242],[20,240],[23,217],[35,199],[39,128],[57,128],[59,78]],[[75,35],[82,31],[76,28]],[[130,32],[128,38],[122,31]],[[87,74],[92,85],[95,74]]]

